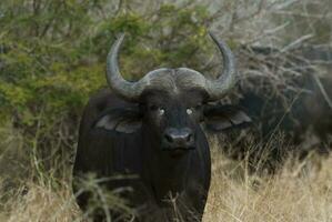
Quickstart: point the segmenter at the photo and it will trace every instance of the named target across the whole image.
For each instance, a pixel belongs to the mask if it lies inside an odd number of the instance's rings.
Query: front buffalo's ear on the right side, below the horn
[[[210,131],[219,132],[232,127],[243,127],[250,122],[251,118],[238,107],[222,104],[204,107],[204,123]]]

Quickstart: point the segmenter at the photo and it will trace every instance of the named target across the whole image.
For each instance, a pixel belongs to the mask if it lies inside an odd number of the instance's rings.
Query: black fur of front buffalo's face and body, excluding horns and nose
[[[80,125],[74,180],[88,172],[98,178],[135,174],[135,179],[110,180],[104,185],[109,190],[133,189],[122,196],[138,210],[138,220],[171,221],[174,212],[168,198],[175,198],[178,215],[184,221],[201,221],[210,186],[211,162],[200,123],[205,120],[207,124],[213,123],[210,128],[222,130],[248,122],[249,118],[245,114],[240,117],[234,110],[233,114],[224,114],[222,109],[218,112],[218,108],[211,109],[211,105],[204,109],[205,94],[199,90],[179,94],[150,90],[140,101],[125,102],[109,90],[91,98]],[[165,110],[162,118],[155,112],[155,107]],[[187,108],[193,110],[190,117]],[[135,130],[132,130],[132,123]],[[162,135],[169,127],[192,129],[194,149],[180,153],[163,151]],[[80,189],[79,185],[73,188],[76,192]],[[88,201],[89,193],[78,196],[82,210],[87,210]],[[112,216],[115,218],[113,212]],[[102,220],[94,218],[94,221]]]

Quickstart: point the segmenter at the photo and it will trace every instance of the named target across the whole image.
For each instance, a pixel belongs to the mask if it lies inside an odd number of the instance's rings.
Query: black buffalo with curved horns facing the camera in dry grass
[[[208,198],[211,161],[201,124],[214,131],[250,121],[230,107],[213,105],[235,82],[230,49],[211,34],[223,56],[223,72],[217,80],[187,69],[158,69],[138,82],[121,77],[118,51],[123,34],[113,44],[107,62],[111,90],[94,95],[81,120],[74,181],[93,172],[108,190],[132,188],[122,196],[137,210],[139,221],[201,221]],[[81,188],[76,185],[76,192]],[[87,211],[91,193],[77,201]],[[172,201],[171,201],[171,200]],[[175,210],[174,210],[175,205]],[[104,210],[94,221],[105,220]],[[105,213],[108,214],[108,213]],[[117,219],[115,213],[109,213]]]

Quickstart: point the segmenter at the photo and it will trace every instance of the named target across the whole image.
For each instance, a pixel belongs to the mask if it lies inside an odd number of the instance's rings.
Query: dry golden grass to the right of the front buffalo
[[[214,154],[204,221],[332,221],[332,158],[289,161],[274,176],[249,175],[245,164]]]

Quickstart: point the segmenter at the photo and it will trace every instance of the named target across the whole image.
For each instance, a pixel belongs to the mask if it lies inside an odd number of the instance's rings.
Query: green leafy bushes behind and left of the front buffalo
[[[54,164],[63,170],[59,162],[73,152],[83,105],[107,87],[105,57],[120,32],[127,33],[120,63],[128,79],[159,67],[207,69],[207,7],[123,2],[0,3],[0,124],[21,133],[39,179]]]

